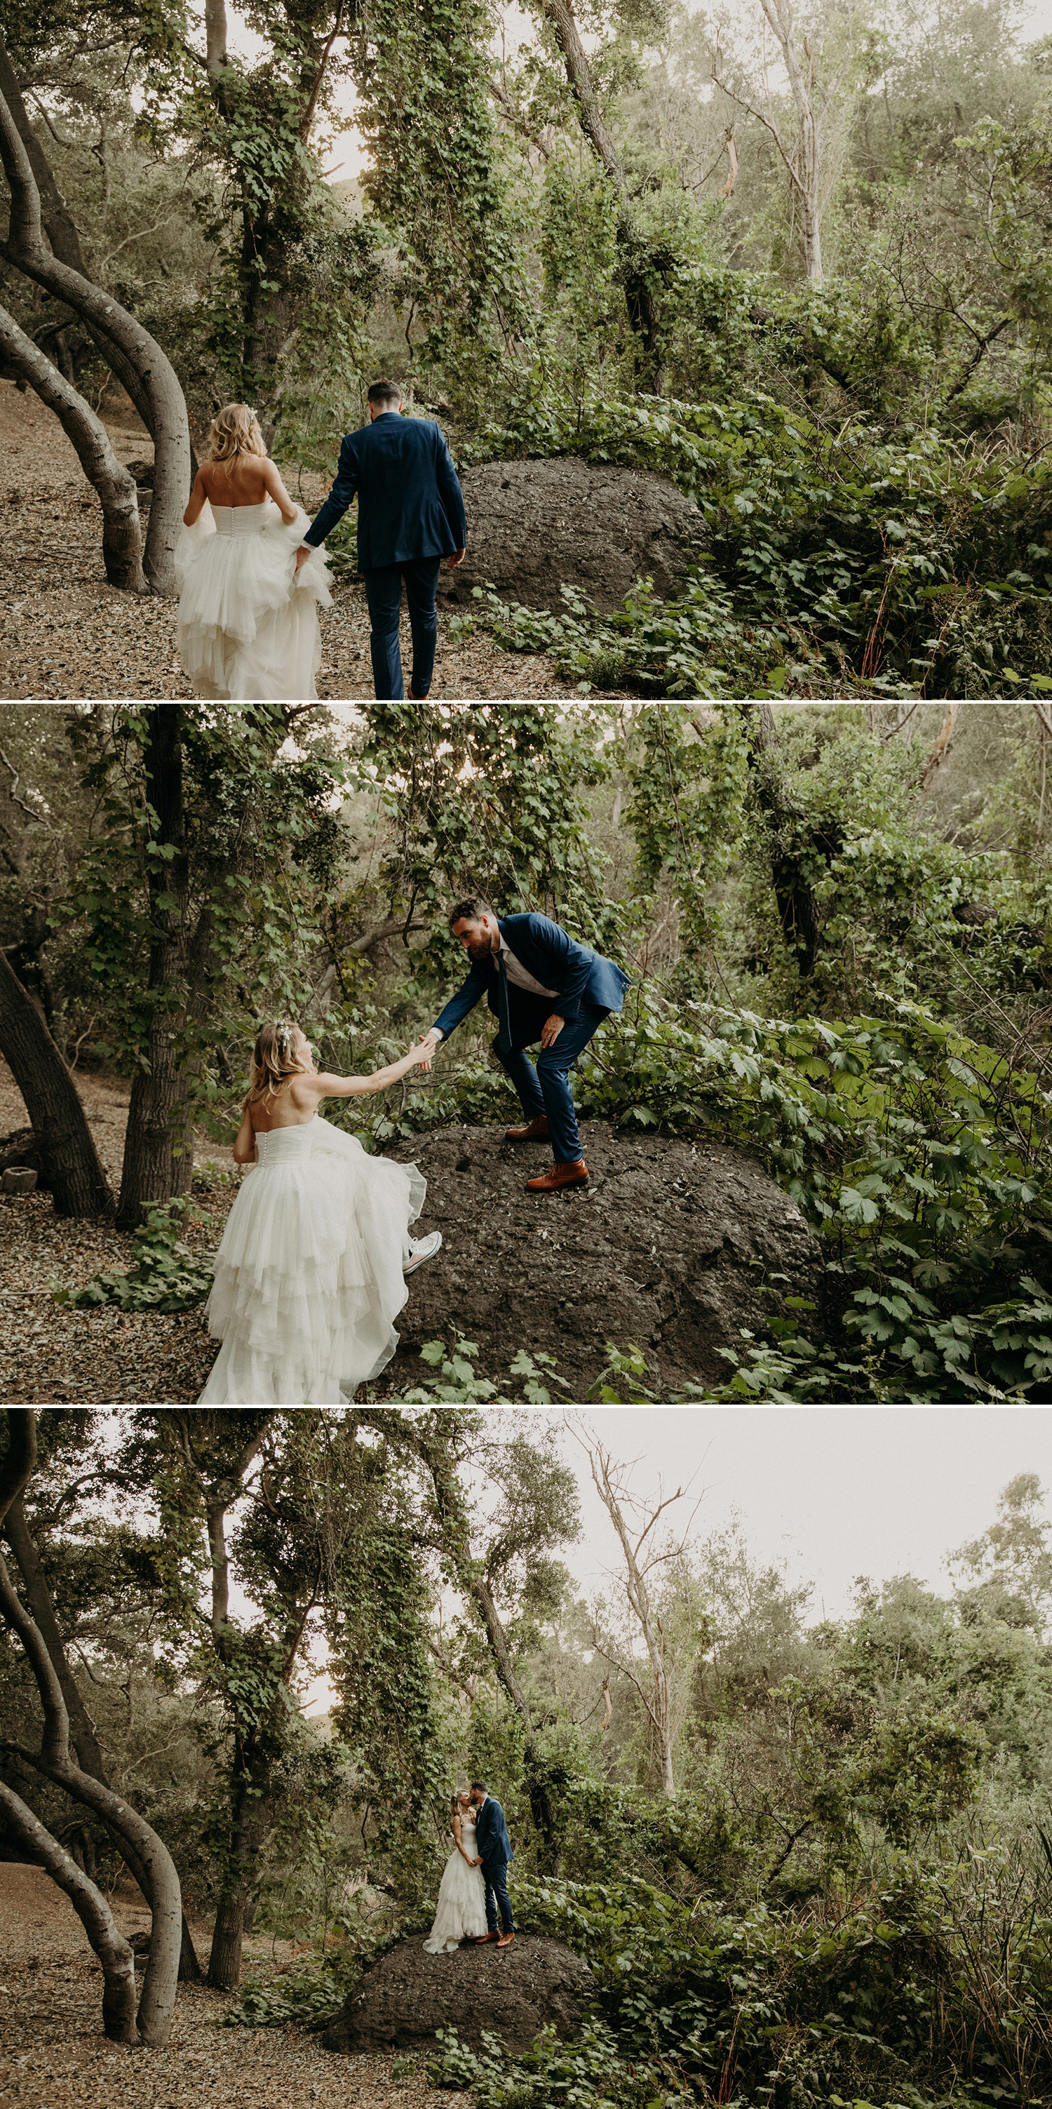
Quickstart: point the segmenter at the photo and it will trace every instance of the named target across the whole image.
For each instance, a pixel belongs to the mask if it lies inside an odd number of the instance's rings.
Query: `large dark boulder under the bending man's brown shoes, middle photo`
[[[422,1230],[443,1249],[411,1276],[392,1375],[455,1327],[479,1341],[479,1369],[506,1377],[519,1348],[554,1354],[582,1398],[605,1343],[643,1348],[660,1390],[727,1379],[719,1348],[744,1352],[769,1299],[818,1297],[818,1242],[799,1208],[742,1149],[618,1135],[582,1122],[588,1185],[527,1194],[552,1162],[548,1143],[506,1143],[504,1128],[436,1128],[396,1156],[428,1179]],[[420,1371],[420,1362],[417,1362]]]

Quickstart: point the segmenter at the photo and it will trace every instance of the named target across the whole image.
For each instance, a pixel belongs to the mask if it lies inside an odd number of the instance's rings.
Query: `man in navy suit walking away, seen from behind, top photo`
[[[308,548],[325,542],[356,491],[358,572],[365,576],[369,601],[373,688],[382,700],[401,702],[405,696],[398,650],[405,578],[413,633],[409,696],[413,702],[424,702],[439,637],[434,614],[439,569],[443,557],[451,572],[464,561],[468,517],[453,458],[439,426],[428,418],[403,418],[401,411],[398,384],[373,382],[369,424],[361,432],[348,432],[335,483],[304,536],[297,563],[306,563]]]

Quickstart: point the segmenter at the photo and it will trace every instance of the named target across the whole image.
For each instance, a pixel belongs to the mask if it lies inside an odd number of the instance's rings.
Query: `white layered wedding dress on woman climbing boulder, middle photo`
[[[398,1346],[428,1183],[320,1114],[255,1149],[215,1255],[204,1316],[223,1346],[198,1405],[346,1405]]]

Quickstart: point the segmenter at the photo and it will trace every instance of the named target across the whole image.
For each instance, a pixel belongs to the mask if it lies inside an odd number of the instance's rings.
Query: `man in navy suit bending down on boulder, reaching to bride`
[[[472,970],[422,1042],[449,1033],[485,995],[500,1033],[493,1054],[508,1071],[527,1116],[525,1128],[508,1128],[508,1143],[550,1141],[554,1164],[527,1179],[529,1194],[554,1194],[588,1183],[569,1071],[592,1033],[624,1004],[628,974],[601,951],[578,945],[546,915],[504,915],[479,901],[457,901],[449,928],[464,945]],[[527,1046],[540,1040],[538,1065]]]

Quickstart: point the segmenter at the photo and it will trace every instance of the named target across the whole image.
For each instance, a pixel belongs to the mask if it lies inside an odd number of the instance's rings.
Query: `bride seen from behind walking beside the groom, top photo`
[[[207,447],[175,544],[183,671],[194,696],[312,702],[318,605],[333,603],[325,557],[301,550],[310,519],[247,403],[219,411]]]

